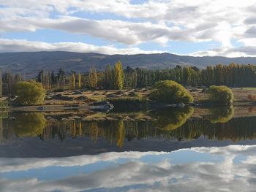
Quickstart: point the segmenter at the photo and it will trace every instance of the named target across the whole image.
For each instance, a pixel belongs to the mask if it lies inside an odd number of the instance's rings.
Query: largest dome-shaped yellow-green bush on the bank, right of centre
[[[191,103],[194,99],[190,93],[178,82],[164,80],[157,82],[153,91],[148,95],[149,99],[163,103]]]

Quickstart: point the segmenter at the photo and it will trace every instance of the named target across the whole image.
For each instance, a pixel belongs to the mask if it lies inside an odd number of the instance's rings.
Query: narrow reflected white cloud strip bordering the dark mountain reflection
[[[0,158],[0,173],[39,169],[47,166],[84,166],[98,161],[116,161],[118,158],[141,158],[145,155],[160,154],[165,154],[165,152],[110,152],[65,158]]]

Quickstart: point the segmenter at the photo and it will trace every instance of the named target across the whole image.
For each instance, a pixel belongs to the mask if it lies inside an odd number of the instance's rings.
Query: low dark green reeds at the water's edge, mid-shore
[[[148,101],[142,97],[121,96],[108,99],[113,104],[114,111],[138,111],[146,110]]]

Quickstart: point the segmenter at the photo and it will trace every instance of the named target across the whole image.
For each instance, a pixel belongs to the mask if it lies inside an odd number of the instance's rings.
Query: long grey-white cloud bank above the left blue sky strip
[[[16,18],[1,20],[0,31],[37,31],[38,29],[56,29],[72,34],[90,35],[126,45],[139,45],[143,42],[165,44],[170,40],[210,41],[203,36],[204,28],[212,25],[199,26],[196,29],[181,29],[153,23],[131,23],[121,20],[88,20],[83,18],[62,17],[58,19]]]

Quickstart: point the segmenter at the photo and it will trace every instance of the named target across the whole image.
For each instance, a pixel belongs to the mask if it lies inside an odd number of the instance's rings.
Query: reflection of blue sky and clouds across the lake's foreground
[[[255,152],[256,145],[235,145],[171,153],[0,158],[0,186],[3,191],[211,191],[218,185],[219,191],[242,191],[246,185],[250,191],[256,187]]]

